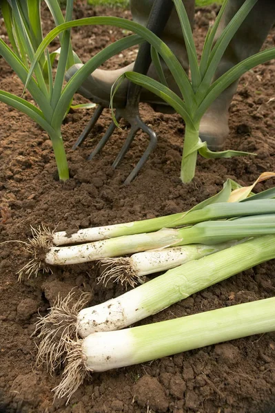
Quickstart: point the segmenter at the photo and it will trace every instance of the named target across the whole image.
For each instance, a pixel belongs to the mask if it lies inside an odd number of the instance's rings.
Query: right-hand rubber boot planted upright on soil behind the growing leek
[[[244,0],[229,1],[218,28],[216,39],[243,3]],[[230,70],[236,63],[257,53],[261,49],[274,21],[275,1],[259,0],[236,32],[227,50],[225,50],[213,80],[215,81],[227,70]],[[207,146],[212,150],[222,149],[229,134],[228,109],[237,86],[238,81],[227,87],[212,103],[201,120],[200,138],[206,141]]]

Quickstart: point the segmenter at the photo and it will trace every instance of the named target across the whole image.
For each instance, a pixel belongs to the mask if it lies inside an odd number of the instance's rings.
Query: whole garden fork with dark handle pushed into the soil
[[[150,16],[147,22],[147,28],[151,30],[154,34],[156,34],[156,36],[161,36],[172,12],[172,8],[172,0],[154,0],[152,10],[150,12]],[[136,61],[134,63],[134,72],[140,74],[147,74],[147,71],[152,61],[150,47],[150,44],[145,42],[139,48],[139,53],[137,54]],[[145,149],[143,156],[141,156],[141,159],[134,167],[128,178],[125,180],[125,184],[129,184],[136,177],[140,169],[145,164],[147,158],[150,156],[150,153],[156,147],[157,142],[155,132],[150,127],[148,127],[143,122],[143,120],[141,120],[139,114],[139,100],[141,96],[141,89],[141,86],[129,82],[125,107],[117,108],[115,114],[116,123],[119,123],[121,118],[124,118],[128,121],[128,123],[130,123],[130,132],[123,144],[123,147],[121,148],[121,151],[119,152],[118,156],[116,156],[116,159],[112,164],[112,167],[114,169],[121,163],[121,160],[123,160],[125,154],[128,152],[128,149],[130,148],[132,140],[134,140],[134,137],[136,136],[136,132],[139,131],[139,129],[145,132],[145,134],[147,134],[150,139],[149,145]],[[98,107],[96,107],[96,110],[90,122],[85,127],[81,136],[79,136],[79,139],[74,144],[72,149],[76,149],[77,147],[79,147],[79,145],[81,145],[85,138],[87,138],[88,134],[90,134],[90,131],[92,130],[94,125],[96,125],[97,120],[99,120],[99,117],[101,116],[104,108],[105,106],[103,105],[98,105]],[[99,153],[99,151],[101,151],[101,149],[108,142],[110,136],[112,136],[114,132],[114,129],[116,129],[116,123],[114,123],[114,121],[112,120],[103,138],[101,138],[98,145],[96,145],[94,151],[92,151],[92,153],[90,154],[88,158],[89,160],[94,158],[94,156],[96,156],[96,154]]]

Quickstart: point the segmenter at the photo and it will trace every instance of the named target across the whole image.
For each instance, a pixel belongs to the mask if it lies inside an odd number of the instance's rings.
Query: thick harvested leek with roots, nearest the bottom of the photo
[[[103,372],[275,330],[275,298],[252,301],[121,331],[96,332],[70,348],[58,397],[70,396],[88,372]]]

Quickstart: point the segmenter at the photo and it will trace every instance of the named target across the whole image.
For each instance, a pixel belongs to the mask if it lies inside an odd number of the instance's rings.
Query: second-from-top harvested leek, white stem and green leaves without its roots
[[[251,205],[252,202],[250,201],[249,204]],[[272,207],[275,207],[275,200]],[[183,229],[161,229],[154,233],[128,235],[81,245],[54,246],[45,254],[45,263],[48,265],[78,264],[167,246],[221,244],[221,242],[230,240],[241,240],[245,237],[271,233],[275,233],[275,213],[265,213],[236,220],[201,222]]]

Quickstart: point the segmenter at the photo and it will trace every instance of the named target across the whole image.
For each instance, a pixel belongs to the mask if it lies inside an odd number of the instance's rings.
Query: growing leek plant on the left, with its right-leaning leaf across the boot
[[[59,7],[58,0],[46,0],[48,8],[54,17],[56,25],[72,20],[73,0],[67,1],[65,19]],[[19,76],[34,100],[34,104],[21,96],[0,90],[0,100],[7,105],[28,115],[40,125],[52,140],[54,156],[57,162],[59,179],[69,178],[68,162],[63,145],[61,125],[68,112],[74,93],[85,77],[99,65],[132,45],[141,43],[139,36],[129,36],[108,46],[101,53],[90,59],[85,70],[70,82],[70,87],[63,88],[66,69],[74,63],[79,63],[77,55],[72,52],[70,43],[70,28],[59,32],[61,47],[59,51],[50,54],[44,49],[39,56],[34,72],[28,76],[30,62],[43,42],[41,15],[41,0],[2,0],[1,11],[6,24],[6,30],[11,47],[0,39],[0,54],[8,62],[12,70]],[[112,18],[110,18],[112,23]],[[52,71],[52,61],[59,54],[59,63],[55,76]],[[88,72],[87,72],[88,70]],[[27,81],[28,79],[28,81]],[[26,89],[25,87],[25,89]],[[23,92],[25,92],[25,89]]]

